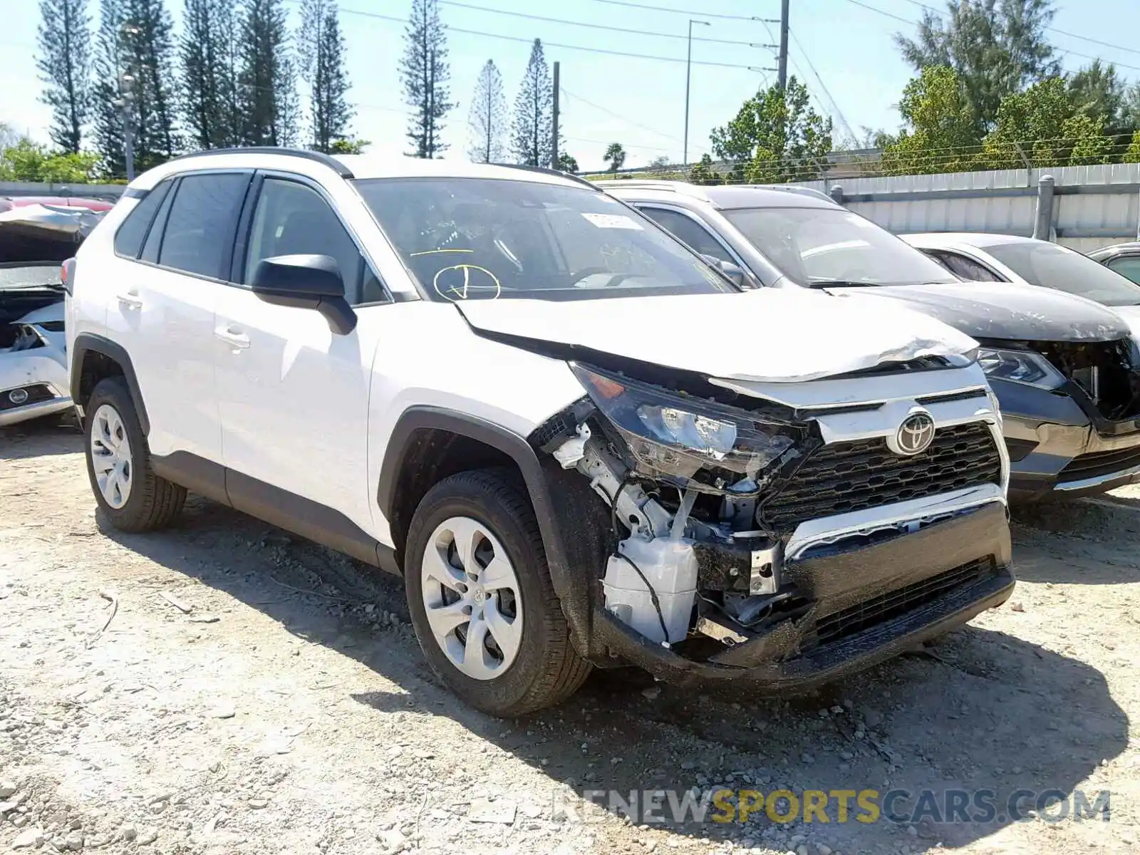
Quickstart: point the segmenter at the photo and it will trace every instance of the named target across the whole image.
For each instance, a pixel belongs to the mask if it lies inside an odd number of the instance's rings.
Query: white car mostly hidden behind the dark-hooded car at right
[[[1140,285],[1076,250],[1032,237],[969,231],[899,237],[967,280],[1037,285],[1102,303],[1140,337]]]

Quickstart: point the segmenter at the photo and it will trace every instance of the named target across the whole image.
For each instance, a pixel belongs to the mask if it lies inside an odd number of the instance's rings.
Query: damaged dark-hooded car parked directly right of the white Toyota
[[[602,184],[739,280],[873,292],[976,339],[1001,404],[1012,500],[1140,480],[1140,349],[1114,309],[1031,285],[967,283],[822,194]]]

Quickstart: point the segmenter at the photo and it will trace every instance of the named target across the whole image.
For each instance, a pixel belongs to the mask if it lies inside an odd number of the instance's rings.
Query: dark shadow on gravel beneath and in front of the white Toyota
[[[540,771],[549,779],[548,791],[502,797],[545,804],[547,817],[551,808],[565,811],[569,836],[594,833],[587,824],[594,814],[572,797],[588,790],[603,791],[593,797],[601,804],[596,811],[611,820],[624,813],[632,791],[646,790],[673,791],[677,799],[690,788],[720,785],[798,795],[905,790],[912,796],[894,801],[896,814],[911,812],[923,789],[935,791],[939,809],[947,790],[991,791],[994,815],[987,821],[938,824],[928,814],[917,823],[917,834],[901,823],[855,821],[861,812],[854,800],[848,821],[839,823],[836,798],[824,808],[825,824],[819,815],[811,824],[775,823],[763,811],[747,824],[716,823],[715,808],[701,822],[692,813],[676,822],[668,798],[658,814],[665,819],[660,825],[678,834],[784,852],[804,840],[845,853],[897,853],[902,844],[912,852],[939,842],[964,846],[1002,826],[1013,791],[1068,796],[1104,758],[1127,746],[1127,718],[1099,671],[975,627],[806,698],[707,695],[617,671],[596,674],[561,708],[524,720],[497,720],[461,705],[431,675],[407,626],[396,579],[365,572],[349,559],[202,500],[189,503],[180,522],[161,535],[100,527],[120,544],[226,592],[290,633],[355,658],[399,685],[405,693],[351,695],[376,715],[377,731],[390,712],[447,716]],[[225,564],[219,555],[227,556]],[[372,616],[396,612],[400,621],[377,628],[365,603],[374,605]],[[423,763],[421,776],[439,772]],[[612,801],[604,791],[613,791]],[[1094,800],[1094,793],[1089,797]],[[604,832],[598,828],[597,833]]]

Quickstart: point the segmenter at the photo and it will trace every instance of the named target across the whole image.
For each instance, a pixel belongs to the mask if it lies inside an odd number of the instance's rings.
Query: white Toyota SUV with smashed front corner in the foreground
[[[68,264],[111,524],[192,490],[400,573],[427,662],[489,712],[592,666],[799,690],[1012,588],[972,340],[738,291],[583,180],[205,153]]]

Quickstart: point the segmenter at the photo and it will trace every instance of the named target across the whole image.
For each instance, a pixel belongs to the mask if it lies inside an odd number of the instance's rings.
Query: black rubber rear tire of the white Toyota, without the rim
[[[107,504],[96,480],[91,456],[91,432],[95,426],[95,415],[104,405],[114,407],[119,414],[131,449],[131,466],[133,467],[131,488],[122,507],[112,507]],[[91,480],[95,500],[111,524],[120,531],[154,531],[169,526],[171,520],[182,510],[182,504],[186,502],[186,488],[158,478],[150,467],[150,447],[147,445],[146,437],[142,435],[142,427],[135,413],[135,402],[123,378],[100,380],[87,402],[85,414],[83,439],[85,440],[87,474]]]

